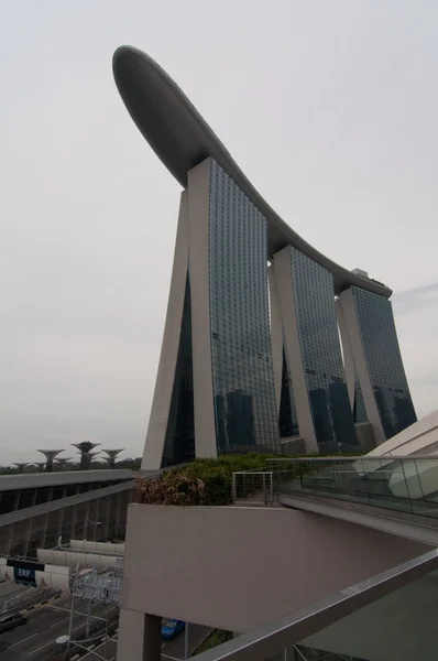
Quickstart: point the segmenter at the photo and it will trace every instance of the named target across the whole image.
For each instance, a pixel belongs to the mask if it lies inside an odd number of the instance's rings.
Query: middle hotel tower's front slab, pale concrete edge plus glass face
[[[274,256],[299,433],[307,453],[357,452],[332,274],[296,248]]]

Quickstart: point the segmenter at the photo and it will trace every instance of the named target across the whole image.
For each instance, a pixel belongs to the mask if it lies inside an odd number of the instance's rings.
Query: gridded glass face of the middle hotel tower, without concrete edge
[[[296,248],[289,250],[303,369],[319,452],[354,453],[358,440],[343,371],[333,279]]]

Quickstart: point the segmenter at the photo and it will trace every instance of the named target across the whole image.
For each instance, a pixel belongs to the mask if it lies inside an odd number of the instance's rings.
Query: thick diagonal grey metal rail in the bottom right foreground
[[[197,660],[264,661],[437,568],[438,550],[434,550],[202,652]]]

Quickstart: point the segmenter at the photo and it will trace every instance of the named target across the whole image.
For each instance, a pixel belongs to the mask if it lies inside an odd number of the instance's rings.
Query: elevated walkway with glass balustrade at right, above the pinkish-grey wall
[[[274,501],[438,546],[438,459],[269,459]]]

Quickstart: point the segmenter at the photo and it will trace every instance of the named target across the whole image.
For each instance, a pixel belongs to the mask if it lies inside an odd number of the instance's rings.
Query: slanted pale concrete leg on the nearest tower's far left
[[[152,400],[142,469],[160,468],[166,442],[172,443],[176,421],[171,420],[171,405],[176,378],[182,336],[183,310],[188,279],[188,199],[184,191],[180,197],[178,228],[176,232],[174,264],[171,280],[166,321]],[[174,408],[176,404],[174,402]],[[177,460],[175,460],[177,463]]]

